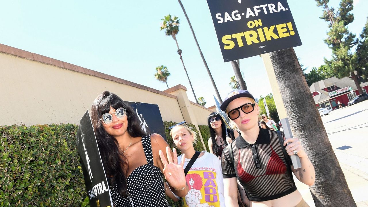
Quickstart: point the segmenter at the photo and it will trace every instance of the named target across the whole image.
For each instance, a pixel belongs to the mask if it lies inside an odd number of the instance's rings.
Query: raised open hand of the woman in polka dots
[[[163,174],[170,186],[174,189],[182,189],[185,187],[186,180],[183,168],[185,154],[181,156],[181,162],[179,164],[175,148],[173,148],[173,156],[171,156],[170,147],[166,147],[166,155],[169,162],[167,162],[162,150],[159,151],[159,155],[164,165]]]

